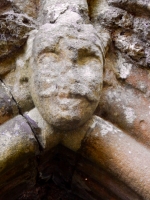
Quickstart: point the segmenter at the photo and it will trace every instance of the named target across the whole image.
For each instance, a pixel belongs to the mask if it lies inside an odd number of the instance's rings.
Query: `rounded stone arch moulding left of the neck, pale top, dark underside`
[[[24,189],[35,185],[35,156],[39,153],[32,130],[22,116],[1,125],[0,148],[1,199],[16,199]]]

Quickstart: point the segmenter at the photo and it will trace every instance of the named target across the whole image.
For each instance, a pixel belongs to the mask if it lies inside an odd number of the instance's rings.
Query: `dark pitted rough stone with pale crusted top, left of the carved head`
[[[0,58],[16,51],[35,29],[33,20],[24,14],[5,12],[0,15]]]

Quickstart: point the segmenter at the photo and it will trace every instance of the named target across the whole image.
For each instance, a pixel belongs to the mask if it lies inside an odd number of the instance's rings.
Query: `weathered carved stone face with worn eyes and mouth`
[[[85,30],[57,39],[43,33],[39,31],[34,40],[33,101],[49,124],[77,128],[91,117],[100,99],[101,51]]]

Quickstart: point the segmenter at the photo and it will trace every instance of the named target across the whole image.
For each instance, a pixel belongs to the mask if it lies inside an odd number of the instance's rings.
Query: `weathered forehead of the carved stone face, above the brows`
[[[76,28],[46,24],[38,31],[33,44],[33,56],[37,58],[45,52],[61,50],[89,49],[97,56],[102,56],[101,41],[92,25]]]

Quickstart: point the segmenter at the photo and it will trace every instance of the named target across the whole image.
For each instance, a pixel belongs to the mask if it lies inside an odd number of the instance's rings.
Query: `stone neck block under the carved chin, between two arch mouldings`
[[[82,127],[71,131],[56,130],[42,118],[37,108],[25,113],[27,121],[34,130],[36,137],[44,152],[50,151],[58,144],[62,144],[68,149],[77,152],[81,147],[81,142],[92,125],[92,120],[88,120]]]

